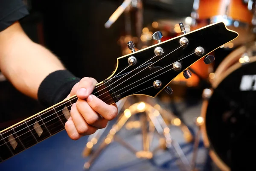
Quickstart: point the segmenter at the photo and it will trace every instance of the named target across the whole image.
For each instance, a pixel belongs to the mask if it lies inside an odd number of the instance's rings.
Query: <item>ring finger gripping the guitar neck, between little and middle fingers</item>
[[[78,111],[76,107],[76,103],[72,105],[70,114],[76,126],[76,130],[79,134],[89,135],[89,134],[93,134],[97,130],[97,128],[87,124],[87,122],[84,120],[81,113]]]

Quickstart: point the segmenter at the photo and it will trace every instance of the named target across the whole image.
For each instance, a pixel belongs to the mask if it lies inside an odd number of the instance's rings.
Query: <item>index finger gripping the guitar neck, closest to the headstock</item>
[[[101,116],[103,116],[103,118],[107,120],[114,119],[118,114],[116,104],[108,105],[94,95],[88,96],[86,101],[93,110],[98,112]]]

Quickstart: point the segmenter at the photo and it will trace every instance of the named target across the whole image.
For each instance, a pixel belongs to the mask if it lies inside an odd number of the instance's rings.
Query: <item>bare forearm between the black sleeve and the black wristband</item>
[[[0,70],[22,93],[37,99],[38,87],[49,73],[64,66],[49,50],[32,42],[15,23],[0,32]],[[13,29],[13,30],[12,30]]]

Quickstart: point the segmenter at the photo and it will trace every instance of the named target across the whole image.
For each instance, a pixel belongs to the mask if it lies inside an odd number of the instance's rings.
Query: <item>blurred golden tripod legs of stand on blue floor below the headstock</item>
[[[142,134],[143,134],[143,150],[137,151],[127,142],[122,140],[117,133],[122,127],[127,123],[128,119],[135,114],[140,114],[140,119],[142,121]],[[148,126],[148,127],[147,127]],[[119,119],[112,126],[111,130],[108,131],[108,135],[99,145],[99,148],[91,155],[90,159],[84,164],[84,169],[89,170],[96,158],[102,153],[104,149],[111,144],[111,142],[119,142],[122,146],[127,148],[129,151],[135,154],[137,158],[151,159],[153,157],[156,149],[151,150],[150,146],[153,139],[154,130],[165,138],[166,150],[168,150],[172,157],[177,157],[177,165],[180,167],[181,171],[191,171],[190,164],[183,154],[182,149],[179,144],[172,139],[170,134],[170,129],[164,122],[160,112],[152,107],[150,104],[145,102],[137,102],[132,104],[130,107],[126,108],[124,112],[120,115]]]

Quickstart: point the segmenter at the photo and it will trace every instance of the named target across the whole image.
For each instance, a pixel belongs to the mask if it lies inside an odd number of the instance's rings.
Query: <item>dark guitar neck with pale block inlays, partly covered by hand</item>
[[[93,93],[107,104],[113,104],[108,87],[102,82]],[[50,136],[64,130],[70,117],[70,109],[77,100],[76,96],[61,101],[15,125],[0,132],[0,162],[36,145]]]

